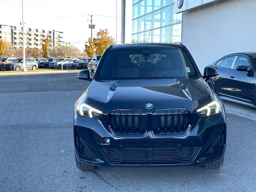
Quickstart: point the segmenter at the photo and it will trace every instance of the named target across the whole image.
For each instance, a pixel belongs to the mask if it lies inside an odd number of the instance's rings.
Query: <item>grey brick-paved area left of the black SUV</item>
[[[0,93],[0,125],[66,123],[83,91]]]

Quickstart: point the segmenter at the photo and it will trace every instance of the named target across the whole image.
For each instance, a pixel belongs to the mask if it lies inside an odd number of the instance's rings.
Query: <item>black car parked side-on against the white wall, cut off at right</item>
[[[219,75],[205,81],[222,99],[256,106],[256,52],[226,55],[209,66]]]

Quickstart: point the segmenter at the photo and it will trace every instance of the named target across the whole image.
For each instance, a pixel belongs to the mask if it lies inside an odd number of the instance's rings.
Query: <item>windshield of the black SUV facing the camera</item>
[[[137,63],[132,58],[137,59]],[[197,71],[183,49],[133,48],[110,50],[96,80],[109,79],[189,79]]]

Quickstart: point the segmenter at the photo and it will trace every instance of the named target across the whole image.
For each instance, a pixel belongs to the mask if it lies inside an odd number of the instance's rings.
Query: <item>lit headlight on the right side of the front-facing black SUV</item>
[[[201,109],[198,109],[196,112],[200,117],[218,114],[222,112],[222,104],[219,99],[214,96],[214,101],[212,101],[208,105],[205,105]]]

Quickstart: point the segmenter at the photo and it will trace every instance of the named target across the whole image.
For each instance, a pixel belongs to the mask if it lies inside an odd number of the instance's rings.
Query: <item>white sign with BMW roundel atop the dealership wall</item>
[[[195,8],[218,0],[175,0],[175,13]]]

